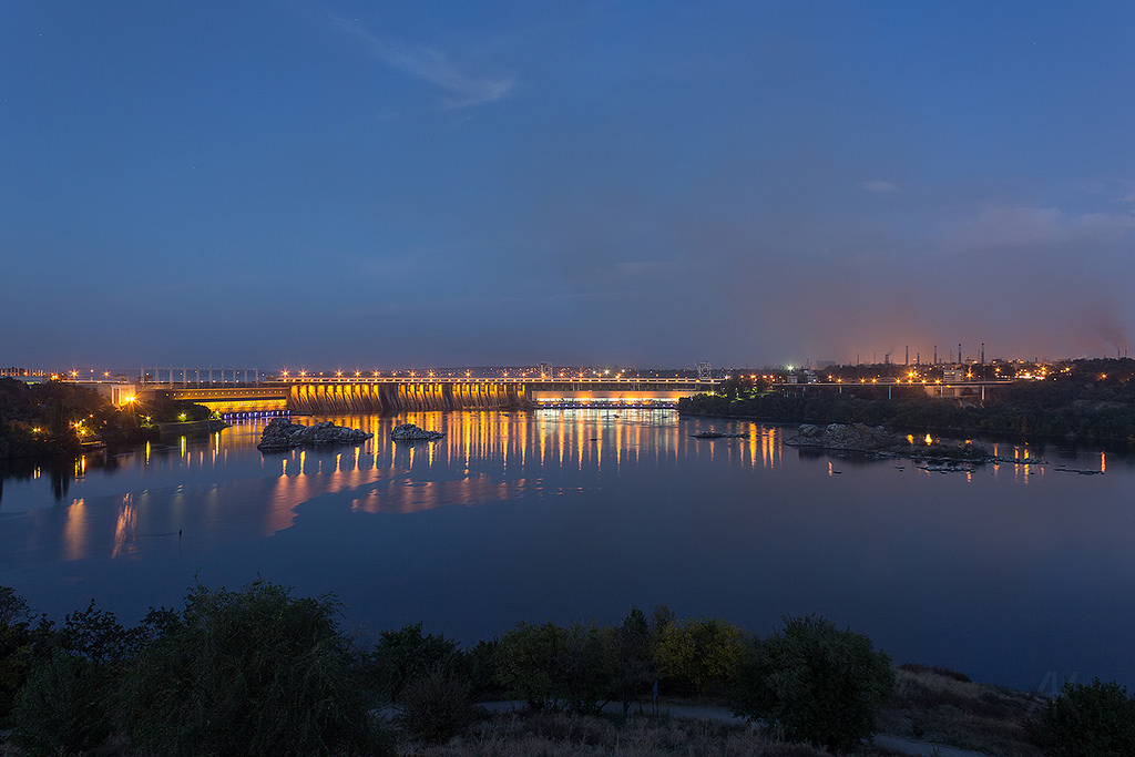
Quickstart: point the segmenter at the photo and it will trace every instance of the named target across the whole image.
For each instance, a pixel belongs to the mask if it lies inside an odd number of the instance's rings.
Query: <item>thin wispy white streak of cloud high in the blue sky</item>
[[[330,16],[330,19],[340,32],[362,42],[373,58],[442,90],[445,93],[443,107],[447,110],[496,102],[508,96],[516,86],[516,77],[511,73],[474,76],[434,48],[381,39],[338,16]]]

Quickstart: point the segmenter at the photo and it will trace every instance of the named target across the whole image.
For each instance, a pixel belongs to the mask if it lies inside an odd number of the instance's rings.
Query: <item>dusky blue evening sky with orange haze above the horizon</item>
[[[0,365],[1123,354],[1133,31],[1126,1],[0,0]]]

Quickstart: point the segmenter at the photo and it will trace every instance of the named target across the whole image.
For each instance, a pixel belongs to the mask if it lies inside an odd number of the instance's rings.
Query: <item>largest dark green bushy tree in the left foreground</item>
[[[127,673],[132,742],[173,755],[381,751],[337,616],[331,599],[263,581],[241,591],[199,584]]]

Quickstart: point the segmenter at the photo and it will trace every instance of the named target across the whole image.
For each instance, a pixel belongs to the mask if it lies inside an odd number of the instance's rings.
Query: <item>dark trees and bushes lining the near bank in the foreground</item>
[[[463,732],[477,701],[578,714],[617,701],[625,718],[661,689],[841,751],[875,733],[896,680],[871,639],[818,616],[760,638],[632,608],[614,625],[521,622],[469,649],[420,623],[367,647],[340,617],[334,597],[255,581],[196,584],[135,628],[93,602],[56,623],[0,587],[0,726],[31,755],[390,755],[405,737]],[[1051,754],[1133,754],[1135,700],[1115,683],[1069,684],[1037,725]]]

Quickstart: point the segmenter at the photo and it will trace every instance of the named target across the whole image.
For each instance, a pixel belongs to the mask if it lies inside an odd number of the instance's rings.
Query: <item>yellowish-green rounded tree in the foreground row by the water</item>
[[[654,644],[659,675],[705,695],[728,685],[743,648],[745,632],[716,619],[671,621]]]

